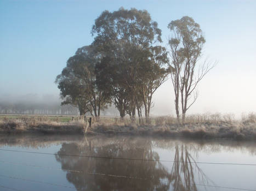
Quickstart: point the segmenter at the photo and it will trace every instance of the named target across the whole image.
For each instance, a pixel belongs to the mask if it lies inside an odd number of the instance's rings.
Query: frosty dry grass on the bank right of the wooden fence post
[[[256,140],[256,114],[243,115],[236,120],[234,115],[189,115],[184,124],[177,123],[172,116],[131,121],[129,118],[93,124],[92,130],[107,134],[161,135],[191,139]]]

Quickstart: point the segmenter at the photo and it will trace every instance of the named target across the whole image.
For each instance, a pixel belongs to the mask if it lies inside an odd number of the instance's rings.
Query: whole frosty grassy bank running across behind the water
[[[256,117],[250,114],[241,121],[229,117],[188,117],[185,124],[178,124],[172,117],[131,121],[119,118],[101,118],[92,127],[82,120],[53,121],[47,117],[2,118],[1,134],[108,134],[147,135],[187,139],[228,139],[256,141]]]

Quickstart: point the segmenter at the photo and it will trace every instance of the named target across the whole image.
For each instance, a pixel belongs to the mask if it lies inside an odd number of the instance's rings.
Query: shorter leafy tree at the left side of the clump
[[[104,92],[96,86],[95,65],[100,55],[93,46],[83,46],[69,58],[67,66],[56,77],[56,83],[64,99],[62,104],[77,105],[80,115],[90,112],[100,116],[100,110],[109,103]]]

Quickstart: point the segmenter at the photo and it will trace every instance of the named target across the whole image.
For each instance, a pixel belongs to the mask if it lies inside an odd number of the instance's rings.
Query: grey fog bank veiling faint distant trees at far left
[[[54,94],[3,94],[0,96],[0,114],[79,115],[76,106],[61,105],[61,101],[60,96]],[[102,114],[119,116],[112,105]]]

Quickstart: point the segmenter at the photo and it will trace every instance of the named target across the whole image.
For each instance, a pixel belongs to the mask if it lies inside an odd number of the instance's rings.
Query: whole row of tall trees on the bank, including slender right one
[[[168,28],[169,52],[160,45],[161,29],[146,10],[103,11],[92,27],[93,43],[79,48],[56,77],[61,104],[96,118],[111,104],[121,118],[148,118],[153,94],[171,76],[177,118],[181,106],[184,122],[197,98],[189,103],[191,93],[212,67],[204,64],[201,73],[195,71],[205,39],[191,17],[172,21]]]

